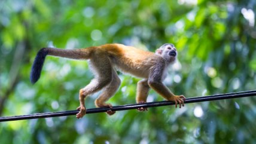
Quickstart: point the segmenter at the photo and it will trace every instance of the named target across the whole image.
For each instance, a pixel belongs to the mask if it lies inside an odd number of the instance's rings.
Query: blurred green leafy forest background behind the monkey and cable
[[[121,43],[156,50],[170,42],[179,61],[164,81],[186,97],[254,90],[255,0],[0,1],[0,115],[76,109],[93,78],[84,61],[47,57],[41,79],[29,72],[42,47]],[[135,103],[139,78],[120,73],[113,105]],[[97,94],[86,99],[94,108]],[[163,100],[150,91],[148,102]],[[256,143],[256,99],[150,108],[148,112],[0,123],[1,143]]]

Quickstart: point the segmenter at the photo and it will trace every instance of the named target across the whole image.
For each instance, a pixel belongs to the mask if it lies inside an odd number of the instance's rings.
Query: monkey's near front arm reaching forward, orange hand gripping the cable
[[[159,93],[164,99],[175,102],[175,107],[177,108],[177,103],[179,103],[179,108],[184,106],[185,97],[183,95],[176,96],[170,91],[166,85],[162,82],[162,76],[164,72],[164,64],[157,63],[153,68],[151,68],[150,75],[148,78],[148,85],[150,85],[153,90]]]

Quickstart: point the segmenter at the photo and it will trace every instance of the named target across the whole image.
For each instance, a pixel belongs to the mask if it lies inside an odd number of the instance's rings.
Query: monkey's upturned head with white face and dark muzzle
[[[164,44],[156,50],[156,54],[159,54],[167,62],[175,62],[178,52],[173,44]]]

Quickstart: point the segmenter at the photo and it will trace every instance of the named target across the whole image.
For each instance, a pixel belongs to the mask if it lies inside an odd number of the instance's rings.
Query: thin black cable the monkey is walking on
[[[234,99],[234,98],[249,97],[249,96],[256,96],[256,90],[240,91],[237,93],[215,94],[211,96],[202,96],[202,97],[190,97],[190,98],[187,98],[184,101],[184,103],[206,102],[206,101],[222,100],[222,99]],[[131,104],[131,105],[113,106],[113,108],[92,108],[92,109],[86,109],[86,114],[95,114],[99,112],[106,112],[108,110],[124,111],[128,109],[150,108],[150,107],[166,106],[166,105],[175,105],[175,103],[170,101],[160,101],[160,102],[148,102],[148,103],[137,103],[137,104]],[[62,111],[62,112],[46,112],[46,113],[31,114],[31,115],[19,115],[19,116],[12,116],[12,117],[0,117],[0,122],[29,120],[29,119],[36,119],[36,118],[62,117],[62,116],[68,116],[68,115],[76,115],[78,112],[79,111],[74,110],[74,111]]]

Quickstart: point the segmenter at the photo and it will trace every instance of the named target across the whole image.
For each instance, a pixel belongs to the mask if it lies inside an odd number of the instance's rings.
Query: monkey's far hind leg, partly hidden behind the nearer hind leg
[[[97,107],[109,107],[112,108],[112,105],[110,103],[106,103],[110,97],[114,96],[115,92],[118,90],[119,86],[121,84],[121,80],[117,75],[117,72],[112,70],[112,81],[103,88],[102,93],[100,96],[95,100],[95,105]],[[115,114],[115,111],[107,111],[106,114],[113,115]]]

